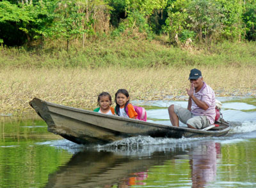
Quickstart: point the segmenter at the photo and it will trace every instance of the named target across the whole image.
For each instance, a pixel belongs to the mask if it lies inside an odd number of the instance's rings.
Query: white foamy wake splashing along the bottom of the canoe
[[[248,131],[244,131],[244,130]],[[136,136],[131,138],[125,138],[113,143],[105,145],[83,145],[77,144],[68,140],[52,140],[45,141],[43,143],[37,143],[38,145],[49,145],[58,149],[67,150],[71,154],[76,154],[83,150],[97,150],[97,151],[111,151],[117,152],[121,155],[148,155],[155,151],[175,150],[175,148],[181,148],[186,150],[195,146],[198,142],[202,141],[216,141],[219,143],[236,143],[242,141],[243,138],[256,138],[256,124],[255,122],[243,122],[239,126],[232,128],[232,133],[228,133],[227,136],[222,137],[204,137],[204,138],[152,138],[150,136]],[[143,151],[143,152],[142,152]]]

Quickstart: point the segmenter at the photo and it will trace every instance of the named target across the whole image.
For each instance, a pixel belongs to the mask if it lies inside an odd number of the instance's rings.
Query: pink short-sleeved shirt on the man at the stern
[[[199,108],[192,100],[191,113],[193,113],[193,115],[206,115],[210,123],[214,124],[216,116],[214,91],[204,82],[203,87],[198,92],[194,91],[194,96],[200,101],[204,101],[209,108],[207,110]]]

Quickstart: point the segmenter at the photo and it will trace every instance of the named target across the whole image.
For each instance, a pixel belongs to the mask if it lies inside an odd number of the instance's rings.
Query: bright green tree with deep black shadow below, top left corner
[[[38,1],[33,4],[0,2],[1,36],[6,45],[28,46],[34,40],[49,36],[57,1]],[[21,36],[21,37],[20,37]]]

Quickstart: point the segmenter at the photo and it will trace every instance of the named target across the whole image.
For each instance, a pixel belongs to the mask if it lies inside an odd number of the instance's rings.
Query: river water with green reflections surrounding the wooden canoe
[[[256,187],[256,99],[218,99],[223,118],[236,122],[220,138],[77,145],[48,133],[42,120],[1,117],[0,187]],[[148,121],[168,125],[168,106],[187,105],[148,103],[156,107]]]

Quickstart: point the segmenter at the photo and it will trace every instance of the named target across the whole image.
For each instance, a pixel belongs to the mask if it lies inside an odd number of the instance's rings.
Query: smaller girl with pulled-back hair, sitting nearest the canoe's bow
[[[112,104],[111,95],[108,92],[102,92],[98,96],[98,105],[100,107],[93,110],[93,112],[114,115],[115,109],[111,107],[111,104]]]

